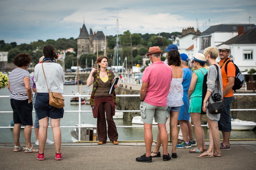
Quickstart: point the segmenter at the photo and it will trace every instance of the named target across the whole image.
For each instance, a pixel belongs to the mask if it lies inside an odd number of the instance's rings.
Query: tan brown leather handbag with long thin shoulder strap
[[[43,63],[42,63],[42,68],[43,68],[43,72],[44,72]],[[44,74],[44,78],[46,81],[45,74]],[[46,85],[47,85],[47,81],[46,81]],[[48,85],[47,85],[47,88],[48,88]],[[50,92],[49,88],[48,88],[48,92],[49,92],[49,105],[56,107],[58,109],[65,107],[65,102],[64,102],[65,99],[61,93]]]

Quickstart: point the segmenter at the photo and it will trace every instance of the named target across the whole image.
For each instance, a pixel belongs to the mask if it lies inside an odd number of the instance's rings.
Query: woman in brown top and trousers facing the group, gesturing
[[[116,110],[116,93],[108,94],[115,74],[113,71],[107,69],[108,57],[101,56],[95,63],[99,65],[100,69],[92,68],[86,85],[89,87],[93,82],[90,105],[92,107],[93,117],[97,118],[97,135],[100,141],[98,144],[106,144],[107,142],[106,117],[108,123],[108,138],[114,144],[118,144],[118,133],[113,120],[113,115],[115,115]],[[117,85],[114,87],[117,87]]]

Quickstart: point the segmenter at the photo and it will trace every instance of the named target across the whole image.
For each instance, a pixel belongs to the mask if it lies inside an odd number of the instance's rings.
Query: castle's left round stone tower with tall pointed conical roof
[[[77,58],[79,59],[82,54],[89,54],[89,34],[83,24],[83,27],[80,28],[80,35],[77,38]]]

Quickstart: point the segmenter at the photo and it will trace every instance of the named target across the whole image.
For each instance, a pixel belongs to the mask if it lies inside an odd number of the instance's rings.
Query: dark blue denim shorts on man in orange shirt
[[[223,99],[223,112],[220,114],[220,120],[218,121],[218,127],[220,131],[224,131],[224,132],[231,131],[230,107],[233,100],[234,100],[234,96],[224,97]]]

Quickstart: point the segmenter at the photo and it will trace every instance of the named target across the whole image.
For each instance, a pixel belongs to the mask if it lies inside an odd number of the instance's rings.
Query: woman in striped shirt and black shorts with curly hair
[[[32,118],[32,85],[33,81],[30,79],[29,72],[25,70],[31,57],[28,54],[20,53],[13,59],[13,64],[17,66],[9,75],[8,89],[11,92],[10,100],[13,110],[13,137],[14,150],[13,152],[25,151],[25,153],[36,153],[38,149],[31,145],[31,127],[33,125]],[[26,147],[20,146],[20,127],[21,124],[25,126],[24,137],[26,140]]]

